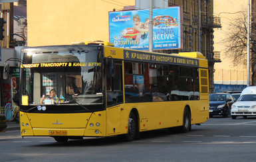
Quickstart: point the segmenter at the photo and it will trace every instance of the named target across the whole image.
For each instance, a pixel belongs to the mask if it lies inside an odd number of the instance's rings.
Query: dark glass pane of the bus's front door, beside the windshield
[[[114,76],[106,75],[107,104],[108,107],[123,102],[122,92],[122,61],[114,61]],[[108,71],[106,71],[108,73]]]

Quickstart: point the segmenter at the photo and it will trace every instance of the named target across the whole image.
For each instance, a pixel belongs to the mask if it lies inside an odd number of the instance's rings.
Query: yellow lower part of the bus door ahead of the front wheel
[[[120,124],[121,124],[121,106],[113,106],[112,108],[108,108],[106,110],[106,133],[110,134],[117,134],[120,133]]]

